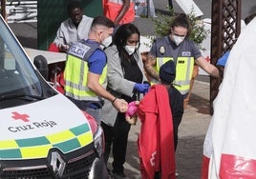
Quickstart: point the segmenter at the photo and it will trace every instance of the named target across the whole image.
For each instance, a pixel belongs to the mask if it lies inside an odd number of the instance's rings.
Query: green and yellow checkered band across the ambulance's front
[[[46,158],[50,149],[72,152],[91,144],[94,140],[89,124],[62,130],[46,136],[0,141],[1,159]]]

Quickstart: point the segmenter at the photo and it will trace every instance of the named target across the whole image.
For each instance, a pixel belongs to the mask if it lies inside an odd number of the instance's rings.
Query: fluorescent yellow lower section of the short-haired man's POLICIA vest
[[[65,94],[76,100],[100,101],[101,98],[87,86],[87,61],[81,60],[71,54],[68,55],[66,69],[64,70]],[[75,72],[74,72],[75,71]],[[99,84],[105,83],[107,66],[102,71]]]

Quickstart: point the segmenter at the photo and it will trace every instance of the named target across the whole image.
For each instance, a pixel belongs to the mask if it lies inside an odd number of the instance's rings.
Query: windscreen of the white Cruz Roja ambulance
[[[41,90],[29,58],[0,18],[0,96],[41,95]]]

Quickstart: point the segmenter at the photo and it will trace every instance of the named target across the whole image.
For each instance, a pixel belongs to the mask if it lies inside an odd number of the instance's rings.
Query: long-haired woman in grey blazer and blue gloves
[[[148,84],[139,54],[139,30],[133,24],[121,25],[113,36],[113,44],[105,50],[108,58],[107,89],[116,97],[128,103],[139,99],[139,94],[147,92]],[[117,112],[106,101],[103,108],[101,126],[105,133],[105,162],[107,163],[113,145],[112,163],[114,178],[125,178],[123,164],[131,125],[123,113]]]

